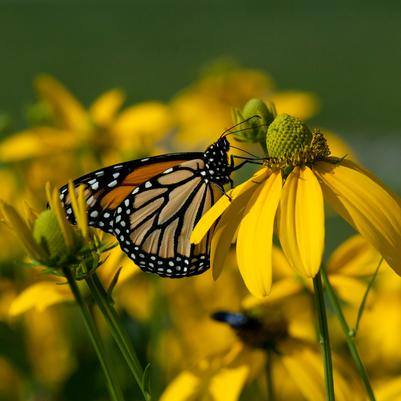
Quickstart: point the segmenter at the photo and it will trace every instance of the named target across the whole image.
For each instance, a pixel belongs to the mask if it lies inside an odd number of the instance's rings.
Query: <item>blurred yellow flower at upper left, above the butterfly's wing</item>
[[[41,158],[65,152],[98,156],[120,152],[121,157],[147,155],[171,129],[171,116],[161,102],[144,102],[119,111],[124,95],[104,93],[89,107],[81,105],[63,85],[48,75],[35,88],[51,113],[51,123],[15,133],[0,144],[3,162]]]

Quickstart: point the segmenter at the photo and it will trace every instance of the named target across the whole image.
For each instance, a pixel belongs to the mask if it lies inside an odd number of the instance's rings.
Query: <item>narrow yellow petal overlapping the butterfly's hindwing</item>
[[[234,201],[240,197],[243,193],[252,189],[255,185],[266,179],[268,171],[266,168],[260,169],[256,172],[252,178],[236,186],[235,188],[228,191],[228,196],[222,196],[212,208],[210,208],[199,220],[191,234],[191,242],[199,244],[203,237],[210,230],[216,220],[224,213],[224,211],[231,205],[230,198]]]

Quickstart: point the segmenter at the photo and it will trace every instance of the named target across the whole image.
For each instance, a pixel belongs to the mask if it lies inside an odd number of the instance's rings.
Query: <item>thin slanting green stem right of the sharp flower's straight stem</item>
[[[358,349],[355,345],[355,341],[354,341],[355,331],[351,330],[350,327],[348,326],[348,323],[347,323],[347,321],[344,317],[343,311],[341,309],[337,294],[335,293],[333,287],[331,286],[326,272],[324,271],[324,269],[322,269],[321,271],[322,271],[322,277],[323,277],[323,281],[324,281],[324,284],[326,287],[327,295],[333,306],[334,313],[336,314],[337,319],[340,322],[341,328],[344,332],[345,340],[347,341],[348,349],[349,349],[351,357],[354,361],[355,367],[357,368],[359,376],[361,377],[361,380],[365,386],[369,400],[375,401],[375,395],[374,395],[373,389],[370,385],[368,374],[367,374],[365,366],[363,365],[362,360],[359,356]]]

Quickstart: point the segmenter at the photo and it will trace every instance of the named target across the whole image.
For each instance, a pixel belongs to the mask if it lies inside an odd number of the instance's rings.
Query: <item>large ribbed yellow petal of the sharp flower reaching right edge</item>
[[[401,275],[401,202],[352,162],[317,162],[314,171],[331,206]]]

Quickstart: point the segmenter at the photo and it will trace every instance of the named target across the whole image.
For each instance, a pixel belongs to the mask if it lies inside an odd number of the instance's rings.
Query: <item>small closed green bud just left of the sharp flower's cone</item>
[[[260,99],[249,100],[242,110],[234,110],[236,124],[240,124],[240,132],[235,133],[235,138],[241,142],[264,142],[268,125],[274,120],[275,110],[271,110]],[[246,121],[248,120],[248,121]]]

